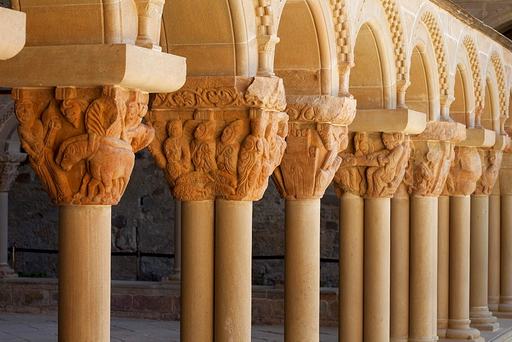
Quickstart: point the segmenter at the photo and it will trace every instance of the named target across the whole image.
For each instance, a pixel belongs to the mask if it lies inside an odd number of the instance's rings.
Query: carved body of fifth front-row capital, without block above
[[[437,197],[446,182],[454,156],[447,141],[413,140],[403,184],[412,197]]]

